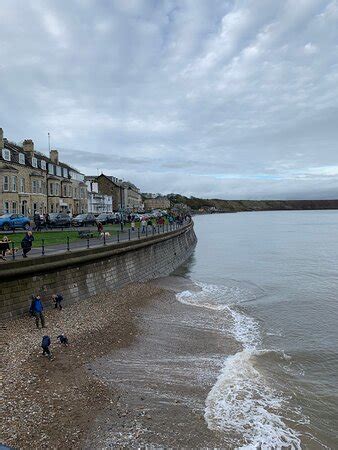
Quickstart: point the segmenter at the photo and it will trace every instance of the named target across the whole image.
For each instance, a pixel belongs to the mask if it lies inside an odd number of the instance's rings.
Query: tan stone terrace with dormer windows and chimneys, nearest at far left
[[[57,150],[49,157],[37,152],[26,139],[22,146],[9,142],[0,128],[0,212],[26,216],[35,212],[87,211],[84,175],[59,161]]]

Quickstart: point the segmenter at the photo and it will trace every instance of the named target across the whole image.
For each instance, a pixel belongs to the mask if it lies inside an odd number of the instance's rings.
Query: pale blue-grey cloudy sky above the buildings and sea
[[[1,0],[0,126],[142,191],[338,198],[338,0]]]

